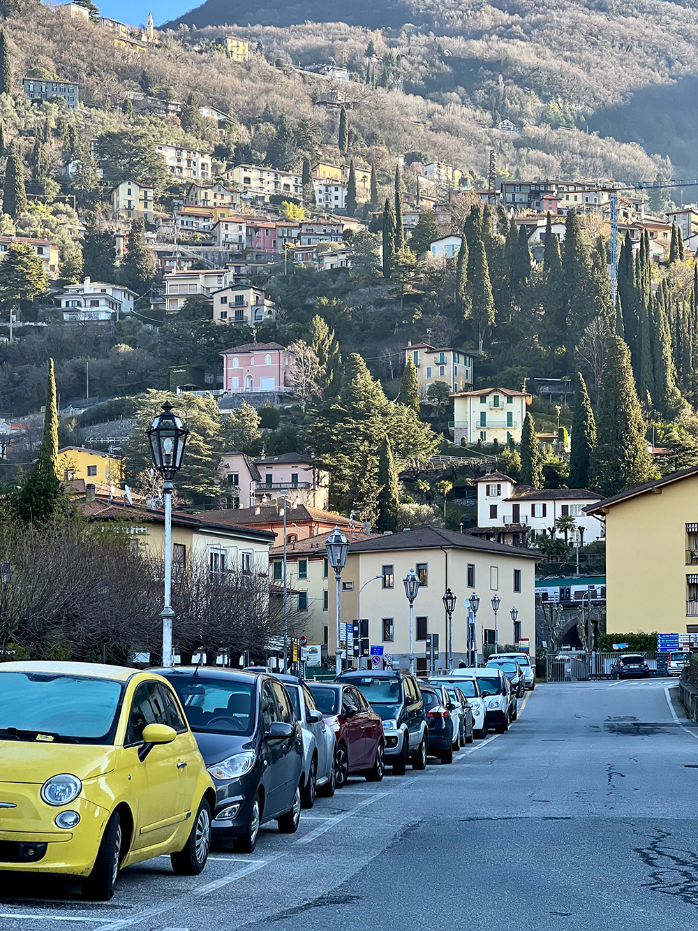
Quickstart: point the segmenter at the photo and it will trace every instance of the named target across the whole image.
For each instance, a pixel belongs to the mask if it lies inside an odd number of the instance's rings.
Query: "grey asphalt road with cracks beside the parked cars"
[[[95,905],[76,884],[0,874],[0,929],[695,927],[698,728],[676,694],[667,680],[539,686],[508,734],[450,766],[351,779],[297,834],[265,828],[253,855],[216,851],[200,877],[154,860]]]

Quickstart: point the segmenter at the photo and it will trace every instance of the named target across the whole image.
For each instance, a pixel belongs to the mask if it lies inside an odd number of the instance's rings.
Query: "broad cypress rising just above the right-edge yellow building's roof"
[[[592,453],[590,484],[610,496],[652,478],[630,352],[619,336],[609,340],[598,417],[597,448]]]

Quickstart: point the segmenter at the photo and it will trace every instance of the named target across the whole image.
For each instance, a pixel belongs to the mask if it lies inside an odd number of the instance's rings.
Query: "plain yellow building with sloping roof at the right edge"
[[[698,466],[586,513],[606,520],[608,632],[698,631]]]

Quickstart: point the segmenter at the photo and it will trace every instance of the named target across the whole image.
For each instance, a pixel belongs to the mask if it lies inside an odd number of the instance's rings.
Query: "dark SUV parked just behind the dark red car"
[[[393,774],[403,776],[426,765],[427,727],[424,702],[417,680],[407,669],[342,672],[338,682],[351,682],[383,718],[385,762]]]

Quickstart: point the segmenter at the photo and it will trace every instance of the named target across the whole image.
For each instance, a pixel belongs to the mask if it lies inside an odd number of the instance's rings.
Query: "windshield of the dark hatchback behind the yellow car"
[[[255,682],[173,676],[169,684],[180,696],[193,731],[244,736],[252,733]]]

